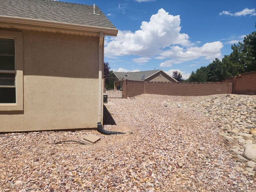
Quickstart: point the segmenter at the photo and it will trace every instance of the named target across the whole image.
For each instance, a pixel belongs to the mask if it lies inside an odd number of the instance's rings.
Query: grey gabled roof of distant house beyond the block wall
[[[149,71],[138,71],[138,72],[113,72],[117,78],[124,78],[127,80],[134,80],[134,81],[142,81],[142,76],[145,75],[144,80],[151,77],[152,75],[158,73],[158,72],[163,72],[163,70],[149,70]],[[168,75],[167,73],[165,73]],[[168,75],[169,76],[169,75]],[[171,76],[169,76],[171,77]],[[171,77],[172,78],[172,77]],[[174,79],[174,78],[172,78]],[[174,79],[176,81],[176,79]]]

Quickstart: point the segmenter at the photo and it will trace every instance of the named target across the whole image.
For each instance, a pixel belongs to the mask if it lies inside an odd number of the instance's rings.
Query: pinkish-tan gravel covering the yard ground
[[[255,127],[255,100],[144,94],[106,105],[104,128],[125,135],[95,130],[2,134],[0,191],[255,191],[255,171],[237,171],[248,162],[230,151],[243,150],[247,140],[255,144],[249,134]],[[234,127],[237,135],[228,132]],[[54,144],[89,133],[101,140]],[[239,133],[250,139],[239,142],[236,136],[245,138]]]

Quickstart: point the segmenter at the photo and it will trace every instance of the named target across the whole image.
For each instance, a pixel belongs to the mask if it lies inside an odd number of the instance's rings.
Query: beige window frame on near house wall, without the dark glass
[[[22,50],[22,32],[0,30],[0,38],[14,39],[15,45],[15,71],[1,70],[3,73],[15,73],[15,94],[16,103],[0,103],[0,111],[23,111],[23,50]],[[3,86],[4,87],[4,86]],[[8,86],[6,86],[8,87]],[[12,86],[13,87],[13,86]]]

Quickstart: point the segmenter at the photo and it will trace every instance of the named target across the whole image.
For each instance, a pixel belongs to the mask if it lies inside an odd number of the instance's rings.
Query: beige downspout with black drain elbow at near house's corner
[[[102,112],[102,44],[103,44],[103,40],[104,40],[104,33],[100,32],[100,42],[99,42],[99,77],[98,77],[98,81],[99,81],[99,87],[98,87],[98,124],[97,124],[97,128],[98,128],[98,132],[104,134],[104,135],[112,135],[112,134],[124,134],[121,132],[115,132],[115,131],[106,131],[105,129],[103,129],[102,124],[101,124],[101,112]]]

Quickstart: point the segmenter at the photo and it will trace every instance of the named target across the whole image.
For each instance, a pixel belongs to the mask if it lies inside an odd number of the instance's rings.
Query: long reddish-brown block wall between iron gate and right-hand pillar
[[[140,94],[202,96],[231,94],[233,83],[148,82],[124,80],[123,98]]]

